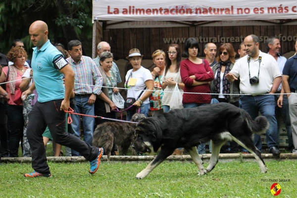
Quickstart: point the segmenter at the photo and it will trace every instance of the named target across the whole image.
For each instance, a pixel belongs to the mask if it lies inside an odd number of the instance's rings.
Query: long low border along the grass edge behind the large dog
[[[202,161],[208,162],[211,154],[202,154],[200,155]],[[146,156],[110,156],[109,160],[107,156],[104,155],[101,161],[109,162],[138,162],[138,161],[151,161],[155,158],[155,155],[146,155]],[[272,154],[262,154],[264,161],[275,160],[276,158]],[[74,162],[85,162],[84,157],[47,157],[50,162],[65,162],[65,163],[74,163]],[[293,153],[281,153],[278,160],[296,160],[297,154]],[[31,157],[2,157],[0,162],[4,163],[31,163]],[[171,155],[166,161],[192,161],[190,155]],[[255,161],[255,158],[252,154],[242,154],[242,153],[232,153],[232,154],[220,154],[220,162],[230,162],[230,161]]]

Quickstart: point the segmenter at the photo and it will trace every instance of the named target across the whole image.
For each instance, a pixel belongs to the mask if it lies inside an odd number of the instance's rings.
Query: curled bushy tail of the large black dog
[[[266,117],[264,116],[258,116],[256,119],[253,121],[249,114],[241,109],[241,114],[244,120],[247,122],[247,126],[249,129],[252,131],[252,133],[255,134],[263,134],[265,133],[268,128],[269,128],[269,122]]]

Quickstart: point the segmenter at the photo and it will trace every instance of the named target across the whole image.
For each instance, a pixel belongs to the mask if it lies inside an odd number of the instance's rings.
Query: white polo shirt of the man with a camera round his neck
[[[248,55],[237,61],[230,71],[237,78],[240,78],[240,92],[251,95],[269,93],[274,78],[282,75],[277,62],[271,55],[259,51],[259,57],[262,57],[261,63],[259,64],[259,59],[253,60],[250,58],[248,69],[247,57]],[[259,69],[259,83],[250,84],[249,78],[257,77]],[[250,72],[250,77],[248,72]]]

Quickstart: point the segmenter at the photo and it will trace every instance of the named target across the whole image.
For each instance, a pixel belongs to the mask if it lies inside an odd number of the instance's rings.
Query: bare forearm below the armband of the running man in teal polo
[[[69,106],[70,106],[69,99],[70,99],[70,96],[71,96],[71,93],[73,90],[73,86],[74,86],[74,72],[69,64],[64,66],[60,70],[60,72],[63,73],[65,76],[65,97],[61,103],[60,110],[68,111]]]

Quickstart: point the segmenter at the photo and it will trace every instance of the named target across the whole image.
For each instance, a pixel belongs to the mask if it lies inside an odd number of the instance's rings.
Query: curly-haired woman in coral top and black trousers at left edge
[[[23,103],[21,99],[22,91],[20,84],[22,76],[28,67],[24,66],[27,60],[27,53],[21,47],[14,47],[7,54],[9,61],[13,62],[12,66],[5,66],[0,76],[1,82],[6,83],[6,90],[0,87],[0,94],[7,101],[7,112],[10,132],[8,134],[9,141],[9,157],[18,157],[19,142],[23,138],[24,117]]]

